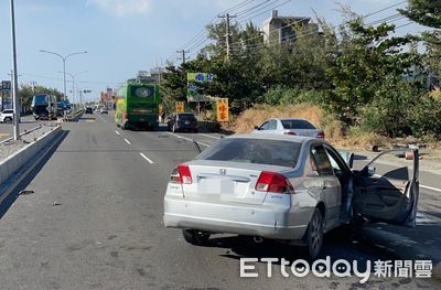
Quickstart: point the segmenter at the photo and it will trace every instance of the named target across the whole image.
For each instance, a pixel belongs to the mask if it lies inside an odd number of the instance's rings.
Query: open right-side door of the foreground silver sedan
[[[419,195],[418,150],[409,151],[413,159],[405,167],[396,168],[383,162],[387,157],[402,152],[402,149],[381,152],[361,171],[354,171],[355,214],[372,222],[416,225]]]

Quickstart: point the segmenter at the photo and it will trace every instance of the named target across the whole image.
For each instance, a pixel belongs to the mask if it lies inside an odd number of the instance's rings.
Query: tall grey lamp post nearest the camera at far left
[[[13,104],[13,139],[20,140],[20,104],[17,76],[17,45],[15,45],[15,13],[14,2],[11,0],[11,42],[12,42],[12,104]]]

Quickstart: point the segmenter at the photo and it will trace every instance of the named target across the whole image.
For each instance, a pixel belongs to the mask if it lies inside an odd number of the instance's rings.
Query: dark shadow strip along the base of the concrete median
[[[19,194],[21,191],[25,190],[26,186],[32,182],[32,180],[39,174],[41,169],[46,164],[46,162],[51,159],[53,153],[57,150],[58,146],[63,142],[63,140],[67,137],[68,130],[63,130],[61,132],[61,137],[57,138],[54,147],[46,152],[46,155],[36,164],[36,167],[29,172],[29,174],[15,186],[13,192],[0,204],[0,218],[4,216],[4,214],[9,211],[12,204],[19,198]]]

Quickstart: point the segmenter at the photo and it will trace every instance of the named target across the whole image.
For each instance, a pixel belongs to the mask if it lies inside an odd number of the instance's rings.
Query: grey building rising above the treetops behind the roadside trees
[[[297,28],[302,28],[297,32]],[[294,42],[299,35],[320,34],[319,25],[311,22],[308,17],[279,17],[277,10],[271,11],[271,17],[263,22],[263,41],[267,44]]]

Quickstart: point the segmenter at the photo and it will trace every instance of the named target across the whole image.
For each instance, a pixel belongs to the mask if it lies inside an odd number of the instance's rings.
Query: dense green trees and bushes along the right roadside
[[[346,135],[439,139],[441,99],[427,84],[429,77],[441,76],[441,1],[410,0],[399,12],[430,32],[394,36],[394,24],[366,25],[346,11],[349,21],[337,28],[318,19],[318,34],[293,24],[294,42],[268,45],[248,23],[245,29],[232,26],[227,60],[225,23],[207,25],[213,43],[195,60],[166,67],[164,101],[172,108],[175,100],[185,100],[187,72],[209,72],[214,82],[200,89],[228,97],[235,115],[262,104],[303,104],[334,116]]]

